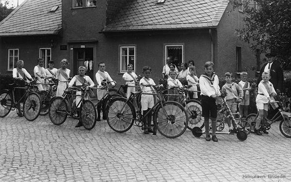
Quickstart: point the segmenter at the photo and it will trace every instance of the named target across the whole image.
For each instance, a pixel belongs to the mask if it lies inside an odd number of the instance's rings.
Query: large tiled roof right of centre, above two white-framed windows
[[[216,27],[229,0],[128,0],[102,32]]]

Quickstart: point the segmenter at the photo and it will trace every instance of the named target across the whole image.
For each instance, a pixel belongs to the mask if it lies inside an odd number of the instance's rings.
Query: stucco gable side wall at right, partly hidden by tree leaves
[[[217,65],[216,70],[219,76],[225,72],[237,72],[236,47],[242,47],[242,70],[256,66],[255,53],[249,48],[249,44],[238,39],[236,29],[243,26],[242,18],[244,14],[238,11],[232,11],[231,5],[228,5],[221,21],[217,27]],[[227,65],[227,67],[226,67]],[[248,70],[249,77],[255,77],[255,71]]]

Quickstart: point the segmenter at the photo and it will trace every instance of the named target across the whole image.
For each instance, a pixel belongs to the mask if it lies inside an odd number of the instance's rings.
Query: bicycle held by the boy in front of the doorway
[[[77,95],[75,92],[81,91],[81,95]],[[97,113],[96,108],[91,100],[85,100],[84,96],[87,94],[88,88],[85,86],[70,87],[69,90],[65,90],[63,96],[55,96],[51,98],[51,103],[49,106],[49,119],[54,125],[62,125],[67,116],[79,119],[82,125],[91,130],[96,125]],[[76,107],[72,108],[69,104],[70,98],[81,97],[80,101]],[[80,106],[81,111],[78,112],[78,106]]]

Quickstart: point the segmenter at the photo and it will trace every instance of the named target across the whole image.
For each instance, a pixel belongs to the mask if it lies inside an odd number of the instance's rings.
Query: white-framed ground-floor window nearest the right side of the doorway
[[[135,46],[120,46],[120,72],[127,71],[127,65],[133,65],[133,71],[135,70]]]

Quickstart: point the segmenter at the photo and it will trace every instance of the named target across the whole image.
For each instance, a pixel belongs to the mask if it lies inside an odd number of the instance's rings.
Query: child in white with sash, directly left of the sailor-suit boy
[[[187,75],[186,80],[189,85],[192,85],[190,88],[188,88],[189,91],[197,91],[197,86],[199,85],[199,79],[195,75],[196,68],[194,66],[189,67],[190,74]],[[190,99],[192,98],[198,98],[197,92],[189,92]]]

